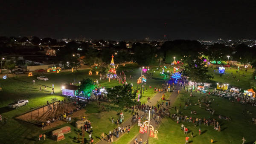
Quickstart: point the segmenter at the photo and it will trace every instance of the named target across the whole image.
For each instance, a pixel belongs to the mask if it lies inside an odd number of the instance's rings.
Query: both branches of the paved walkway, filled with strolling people
[[[176,88],[178,88],[179,89],[179,87],[176,87]],[[149,106],[156,106],[157,105],[157,101],[159,101],[161,98],[162,98],[162,93],[159,93],[159,92],[157,92],[157,94],[156,95],[154,95],[154,97],[149,101],[149,102],[147,102],[146,103],[146,105],[149,105]],[[170,106],[175,102],[175,99],[177,98],[177,93],[175,93],[175,92],[172,92],[172,94],[169,96],[169,98],[166,100],[166,101],[170,101]],[[140,112],[139,112],[139,115],[140,115]],[[144,112],[142,112],[142,115],[144,115]],[[146,114],[145,114],[146,115]],[[153,119],[151,118],[151,123],[153,124],[153,126],[154,127],[156,127],[156,124],[155,124],[155,121],[153,122]],[[132,127],[138,127],[137,126],[137,122],[133,122],[132,121],[132,116],[130,117],[130,118],[128,118],[126,121],[124,121],[121,125],[120,125],[120,127],[122,127],[122,126],[124,126],[124,127],[126,127],[128,124],[130,124],[131,125],[131,128]],[[112,132],[113,130],[111,130],[111,132]],[[105,133],[106,135],[108,134],[108,133]],[[127,133],[125,133],[126,135],[127,135]],[[122,135],[124,135],[123,133],[119,133],[119,138],[122,136]],[[139,140],[140,139],[140,137],[141,138],[143,138],[143,141],[146,141],[147,140],[147,134],[140,134],[139,132],[138,132],[138,135],[136,135],[134,138],[136,138],[137,137],[137,139]],[[131,144],[134,144],[134,138],[130,141],[130,143]],[[116,141],[118,138],[116,138],[116,136],[113,136],[113,140],[114,141]],[[97,144],[108,144],[107,143],[107,136],[104,138],[104,140],[103,141],[98,141],[97,142]]]

